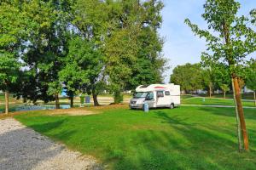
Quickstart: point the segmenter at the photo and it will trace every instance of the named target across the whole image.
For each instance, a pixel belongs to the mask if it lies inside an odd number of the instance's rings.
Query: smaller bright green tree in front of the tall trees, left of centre
[[[95,44],[81,37],[73,37],[69,44],[65,67],[59,72],[69,92],[79,94],[86,92],[93,95],[94,105],[99,105],[96,89],[101,83],[98,80],[103,67],[103,56],[96,50]]]

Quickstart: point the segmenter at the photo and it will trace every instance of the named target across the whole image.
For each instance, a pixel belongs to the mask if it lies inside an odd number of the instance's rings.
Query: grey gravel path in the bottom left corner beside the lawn
[[[15,119],[0,119],[0,170],[101,169],[90,156],[67,150],[23,126]]]

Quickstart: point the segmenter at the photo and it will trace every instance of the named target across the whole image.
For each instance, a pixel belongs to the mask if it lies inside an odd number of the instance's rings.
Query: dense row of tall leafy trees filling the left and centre
[[[73,96],[108,89],[114,102],[139,84],[162,81],[165,59],[156,0],[2,0],[0,90],[59,108]]]

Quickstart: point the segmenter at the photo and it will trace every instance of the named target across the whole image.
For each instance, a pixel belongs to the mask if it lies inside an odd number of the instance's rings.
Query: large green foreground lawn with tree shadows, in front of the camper
[[[232,108],[102,111],[91,116],[34,111],[15,118],[70,149],[95,156],[108,169],[256,169],[254,109],[245,109],[248,153],[237,152]]]

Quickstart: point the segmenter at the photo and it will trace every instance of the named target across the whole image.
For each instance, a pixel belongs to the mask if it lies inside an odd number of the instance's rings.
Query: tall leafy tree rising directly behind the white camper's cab
[[[141,3],[141,31],[137,37],[139,48],[136,62],[131,65],[132,74],[126,89],[135,89],[141,84],[162,82],[162,72],[167,68],[166,59],[161,56],[163,39],[158,35],[158,29],[162,23],[161,1],[147,1]]]

